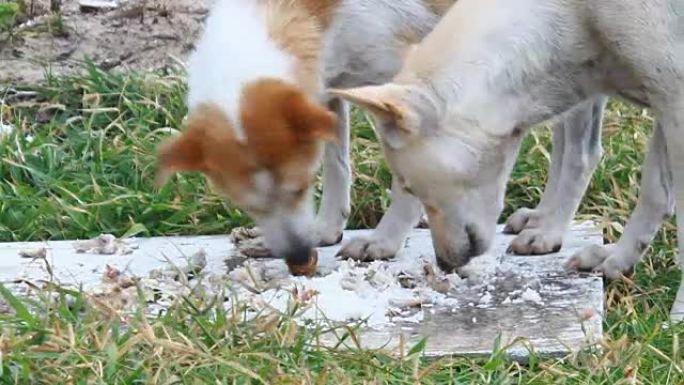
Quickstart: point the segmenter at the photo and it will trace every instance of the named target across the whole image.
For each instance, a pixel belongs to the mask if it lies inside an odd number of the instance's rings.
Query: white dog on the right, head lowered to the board
[[[489,247],[530,127],[605,95],[652,108],[657,128],[623,238],[569,261],[618,276],[674,202],[684,239],[682,15],[676,0],[460,0],[391,83],[332,93],[374,114],[392,171],[425,205],[449,271]],[[681,249],[679,262],[684,281]],[[671,317],[684,319],[684,284]]]

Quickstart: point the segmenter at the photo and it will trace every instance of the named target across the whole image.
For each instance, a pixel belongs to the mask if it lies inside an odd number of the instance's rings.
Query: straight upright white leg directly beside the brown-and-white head
[[[350,212],[349,106],[340,99],[333,99],[328,107],[337,115],[339,141],[325,146],[323,196],[316,221],[320,246],[334,245],[342,240]]]

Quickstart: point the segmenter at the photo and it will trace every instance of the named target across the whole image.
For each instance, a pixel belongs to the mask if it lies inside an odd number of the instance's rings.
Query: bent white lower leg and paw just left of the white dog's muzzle
[[[378,226],[370,236],[350,240],[340,250],[339,256],[360,261],[394,257],[408,233],[418,223],[422,212],[423,206],[418,198],[405,192],[398,182],[392,181],[392,204]]]

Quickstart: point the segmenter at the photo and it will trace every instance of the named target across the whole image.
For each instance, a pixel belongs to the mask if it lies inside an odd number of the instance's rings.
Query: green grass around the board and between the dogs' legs
[[[153,187],[154,150],[181,125],[184,85],[176,71],[115,75],[86,67],[80,77],[48,77],[34,102],[3,107],[15,134],[0,146],[0,240],[226,233],[249,223],[198,175]],[[613,103],[605,156],[581,215],[619,236],[634,206],[652,118]],[[365,117],[354,115],[354,208],[350,225],[371,227],[389,203],[390,173]],[[534,206],[546,178],[550,134],[526,141],[509,186],[506,214]],[[528,365],[488,359],[401,358],[330,350],[318,331],[289,314],[245,321],[196,295],[163,316],[120,317],[87,296],[51,288],[32,300],[0,291],[0,384],[684,384],[684,326],[663,329],[681,277],[671,223],[630,282],[608,286],[603,353]],[[345,331],[341,330],[344,334]],[[345,343],[353,346],[353,329]],[[492,341],[494,346],[495,341]],[[412,353],[412,354],[409,354]]]

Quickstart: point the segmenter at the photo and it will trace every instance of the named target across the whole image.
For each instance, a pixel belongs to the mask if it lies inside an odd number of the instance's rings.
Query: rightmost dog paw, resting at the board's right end
[[[638,256],[628,256],[618,251],[614,245],[592,245],[573,255],[565,267],[569,270],[595,271],[603,273],[608,279],[618,279],[630,274],[634,268],[629,261]]]

